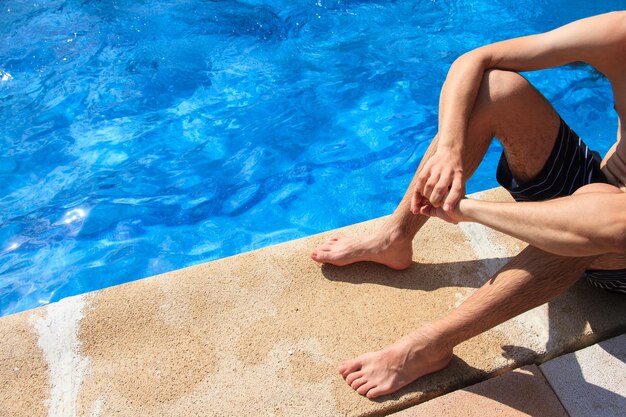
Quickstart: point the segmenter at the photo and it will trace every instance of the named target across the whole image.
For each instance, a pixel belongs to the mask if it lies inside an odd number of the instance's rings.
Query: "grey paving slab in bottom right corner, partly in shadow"
[[[553,359],[541,370],[570,417],[626,415],[626,334]]]

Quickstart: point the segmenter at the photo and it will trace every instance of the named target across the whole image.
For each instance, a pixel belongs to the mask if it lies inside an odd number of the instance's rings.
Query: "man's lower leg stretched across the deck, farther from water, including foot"
[[[342,363],[339,372],[368,398],[395,392],[446,367],[457,344],[561,294],[593,260],[529,246],[447,316],[381,351]]]

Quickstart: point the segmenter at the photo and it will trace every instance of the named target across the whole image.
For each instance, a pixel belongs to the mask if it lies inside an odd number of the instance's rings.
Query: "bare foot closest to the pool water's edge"
[[[361,261],[383,264],[393,269],[407,269],[413,259],[411,241],[376,235],[368,239],[335,237],[313,249],[316,262],[344,266]]]

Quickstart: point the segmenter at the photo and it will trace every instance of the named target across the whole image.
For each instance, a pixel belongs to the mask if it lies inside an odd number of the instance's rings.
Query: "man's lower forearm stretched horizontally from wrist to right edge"
[[[459,221],[472,221],[562,256],[623,251],[626,194],[591,193],[543,202],[464,199]]]

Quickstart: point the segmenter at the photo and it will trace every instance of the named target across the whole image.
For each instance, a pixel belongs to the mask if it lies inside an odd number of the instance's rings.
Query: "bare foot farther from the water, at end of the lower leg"
[[[452,348],[442,349],[427,334],[418,330],[381,351],[346,361],[339,366],[339,373],[367,398],[391,394],[450,363]]]

